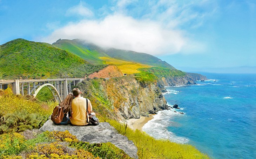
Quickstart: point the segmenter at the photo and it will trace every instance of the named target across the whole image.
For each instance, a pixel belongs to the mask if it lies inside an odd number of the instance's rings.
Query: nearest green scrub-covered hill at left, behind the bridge
[[[15,39],[0,45],[0,79],[84,77],[103,67],[47,43]]]

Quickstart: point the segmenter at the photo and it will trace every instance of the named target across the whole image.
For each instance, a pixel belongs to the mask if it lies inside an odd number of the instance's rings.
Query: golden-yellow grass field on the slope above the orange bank
[[[141,64],[141,63],[133,63],[129,61],[117,60],[114,58],[100,57],[100,59],[105,61],[105,64],[108,65],[116,65],[123,74],[134,74],[140,73],[141,71],[137,70],[138,68],[150,68],[153,66]]]

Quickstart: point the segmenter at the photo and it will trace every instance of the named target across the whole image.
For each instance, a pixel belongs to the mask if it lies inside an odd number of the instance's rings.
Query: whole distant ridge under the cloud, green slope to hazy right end
[[[162,61],[161,59],[153,55],[115,48],[104,49],[92,43],[87,43],[79,39],[59,39],[55,43],[53,43],[53,45],[63,50],[69,51],[73,54],[76,54],[92,64],[102,64],[103,61],[99,59],[100,57],[111,57],[118,60],[130,61],[135,63],[137,62],[151,66],[159,66],[172,70],[175,69],[169,63]]]

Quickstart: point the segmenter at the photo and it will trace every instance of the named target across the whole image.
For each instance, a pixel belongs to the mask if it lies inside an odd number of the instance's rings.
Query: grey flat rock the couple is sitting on
[[[75,135],[80,141],[89,143],[107,143],[114,144],[119,149],[122,149],[132,158],[138,158],[137,147],[126,136],[117,132],[108,122],[102,122],[97,126],[73,126],[73,125],[55,125],[51,120],[48,120],[39,129],[41,131],[66,131]]]

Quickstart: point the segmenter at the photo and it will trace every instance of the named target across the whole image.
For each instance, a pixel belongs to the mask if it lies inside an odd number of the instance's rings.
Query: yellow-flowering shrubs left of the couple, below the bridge
[[[52,114],[55,102],[41,103],[31,96],[21,97],[11,88],[0,91],[0,134],[40,128]]]

